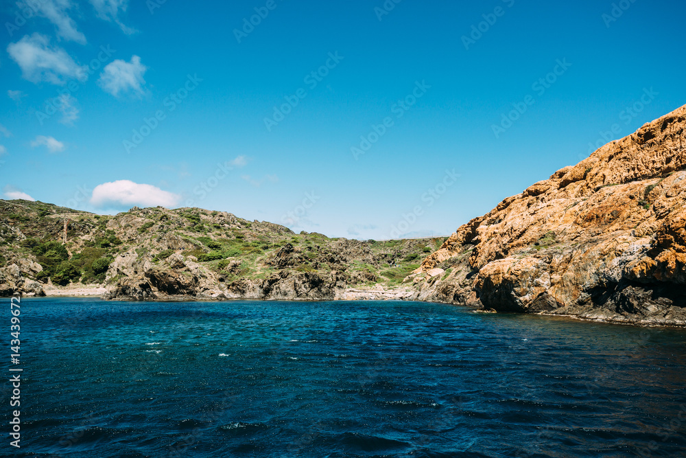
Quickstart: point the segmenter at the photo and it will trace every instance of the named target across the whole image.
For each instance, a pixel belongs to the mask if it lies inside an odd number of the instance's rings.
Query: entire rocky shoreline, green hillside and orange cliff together
[[[685,127],[678,108],[449,238],[362,242],[196,208],[99,216],[0,201],[0,295],[418,299],[686,325]]]

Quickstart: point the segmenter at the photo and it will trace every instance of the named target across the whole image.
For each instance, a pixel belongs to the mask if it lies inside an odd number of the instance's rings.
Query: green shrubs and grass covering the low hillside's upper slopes
[[[29,204],[31,205],[31,204]],[[222,273],[223,282],[238,279],[266,279],[283,273],[318,273],[322,276],[346,273],[353,282],[373,285],[399,284],[418,267],[419,262],[440,247],[445,238],[424,240],[388,240],[379,242],[348,241],[342,238],[327,238],[320,233],[305,231],[295,234],[288,229],[271,223],[250,222],[237,218],[224,221],[219,212],[199,209],[141,209],[134,211],[134,236],[127,225],[130,215],[97,216],[83,213],[70,216],[72,224],[67,233],[67,244],[62,245],[62,218],[57,207],[36,207],[16,209],[10,204],[4,207],[0,222],[0,256],[12,250],[26,257],[36,257],[43,266],[43,272],[36,278],[54,284],[69,282],[102,283],[110,265],[117,255],[135,251],[134,260],[140,268],[145,262],[162,263],[174,253],[195,257],[204,268]],[[65,209],[64,213],[72,213]],[[10,219],[8,218],[10,216]],[[79,218],[80,216],[80,218]],[[222,220],[220,220],[222,218]],[[29,238],[21,242],[21,230]],[[155,230],[156,233],[152,233]],[[168,234],[183,240],[187,249],[166,249],[161,238]],[[292,249],[284,249],[292,244]],[[8,251],[9,250],[9,251]],[[280,251],[281,250],[281,251]],[[71,253],[71,256],[70,256]],[[278,257],[276,253],[279,253]],[[33,256],[32,256],[33,255]],[[5,262],[0,258],[0,265]],[[159,266],[167,268],[167,266]],[[141,270],[139,269],[139,273]],[[187,269],[180,273],[191,275]],[[110,279],[116,282],[122,275]]]

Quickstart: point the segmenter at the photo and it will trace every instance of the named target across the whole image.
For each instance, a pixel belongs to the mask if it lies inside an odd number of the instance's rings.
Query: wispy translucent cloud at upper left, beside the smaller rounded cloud
[[[10,43],[7,51],[21,68],[25,80],[64,84],[72,78],[80,81],[88,78],[86,66],[74,62],[64,49],[51,47],[50,39],[45,35],[26,35],[18,42]]]

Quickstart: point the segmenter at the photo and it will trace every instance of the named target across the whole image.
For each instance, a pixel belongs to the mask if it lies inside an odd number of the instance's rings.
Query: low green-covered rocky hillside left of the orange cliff
[[[401,282],[445,239],[363,242],[197,208],[105,216],[0,201],[0,295],[406,299],[416,292]]]

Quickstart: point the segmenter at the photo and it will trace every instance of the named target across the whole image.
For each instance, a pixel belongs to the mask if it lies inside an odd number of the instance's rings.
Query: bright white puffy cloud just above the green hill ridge
[[[143,207],[176,207],[181,196],[163,191],[153,185],[134,183],[130,180],[118,180],[97,185],[91,196],[91,204],[96,207],[133,206]]]

